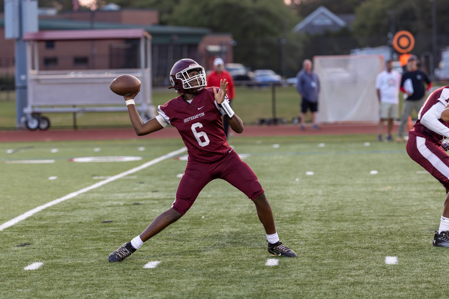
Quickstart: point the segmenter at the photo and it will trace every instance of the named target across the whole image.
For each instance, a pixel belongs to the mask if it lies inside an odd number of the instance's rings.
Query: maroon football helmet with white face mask
[[[198,75],[189,77],[189,72],[192,70],[198,71]],[[181,59],[173,65],[170,71],[170,82],[172,87],[179,92],[189,92],[197,95],[202,91],[203,87],[206,87],[206,72],[204,68],[196,61],[191,59]],[[192,86],[192,84],[198,83],[198,85]]]

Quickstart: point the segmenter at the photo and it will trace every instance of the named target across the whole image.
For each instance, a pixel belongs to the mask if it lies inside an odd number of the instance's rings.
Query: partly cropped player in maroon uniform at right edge
[[[435,231],[433,246],[449,247],[449,86],[432,92],[418,113],[418,121],[409,131],[406,148],[410,158],[423,166],[446,188],[440,229]],[[442,147],[443,146],[443,147]]]

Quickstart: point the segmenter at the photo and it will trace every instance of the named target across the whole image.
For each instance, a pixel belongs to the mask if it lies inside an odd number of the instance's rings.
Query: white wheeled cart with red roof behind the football
[[[46,30],[29,32],[26,41],[27,95],[26,126],[34,130],[47,129],[48,118],[41,113],[88,113],[128,111],[122,96],[114,94],[110,82],[123,74],[133,75],[142,82],[136,96],[136,108],[142,118],[155,116],[151,100],[151,35],[143,29],[107,30]],[[38,41],[139,39],[140,68],[136,69],[83,69],[40,70]]]

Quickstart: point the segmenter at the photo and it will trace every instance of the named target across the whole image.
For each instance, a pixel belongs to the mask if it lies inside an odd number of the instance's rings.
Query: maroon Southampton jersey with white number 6
[[[231,149],[212,88],[204,88],[190,104],[180,95],[158,107],[159,115],[178,129],[189,158],[198,162],[219,160]]]

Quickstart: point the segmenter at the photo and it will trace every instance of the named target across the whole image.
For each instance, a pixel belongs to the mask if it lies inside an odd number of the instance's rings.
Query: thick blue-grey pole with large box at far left
[[[37,0],[4,1],[4,37],[5,39],[15,39],[16,127],[18,129],[23,129],[26,121],[23,108],[28,104],[27,63],[31,63],[31,61],[27,61],[23,35],[26,32],[39,30],[37,7]]]

